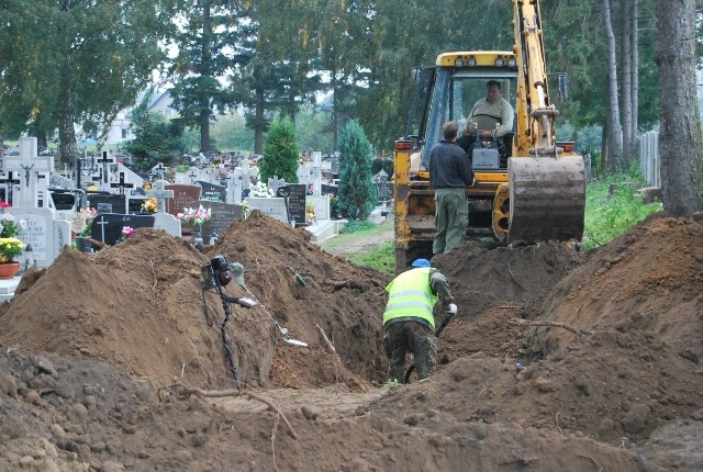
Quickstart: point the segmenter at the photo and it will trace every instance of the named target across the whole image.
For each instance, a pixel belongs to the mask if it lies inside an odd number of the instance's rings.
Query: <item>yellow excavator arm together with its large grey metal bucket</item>
[[[539,1],[513,0],[513,9],[517,133],[509,159],[507,241],[581,239],[583,158],[556,146],[559,112],[549,100]]]

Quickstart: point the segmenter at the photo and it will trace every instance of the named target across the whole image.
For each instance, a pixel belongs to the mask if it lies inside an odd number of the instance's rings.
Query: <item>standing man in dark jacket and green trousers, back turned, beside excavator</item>
[[[450,121],[442,126],[444,139],[429,150],[429,184],[435,188],[435,228],[432,254],[447,254],[464,241],[469,225],[466,187],[473,184],[467,154],[455,142],[459,126]]]

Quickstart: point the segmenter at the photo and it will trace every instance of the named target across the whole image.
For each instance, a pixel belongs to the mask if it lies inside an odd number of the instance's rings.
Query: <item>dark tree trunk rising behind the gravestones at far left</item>
[[[60,0],[62,12],[68,14],[69,7],[69,0]],[[66,45],[63,56],[64,61],[58,72],[58,157],[59,162],[70,164],[76,149],[70,45]]]

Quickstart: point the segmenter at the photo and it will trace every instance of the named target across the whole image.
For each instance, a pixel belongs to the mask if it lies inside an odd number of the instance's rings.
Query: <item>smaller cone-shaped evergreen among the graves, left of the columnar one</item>
[[[278,176],[287,182],[297,183],[299,156],[293,124],[288,119],[274,122],[264,144],[261,180]]]

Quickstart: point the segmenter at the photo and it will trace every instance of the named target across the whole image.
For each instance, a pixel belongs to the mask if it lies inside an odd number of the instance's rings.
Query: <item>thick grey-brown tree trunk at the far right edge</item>
[[[695,80],[695,0],[656,4],[663,210],[672,216],[691,216],[701,210],[703,164]]]

